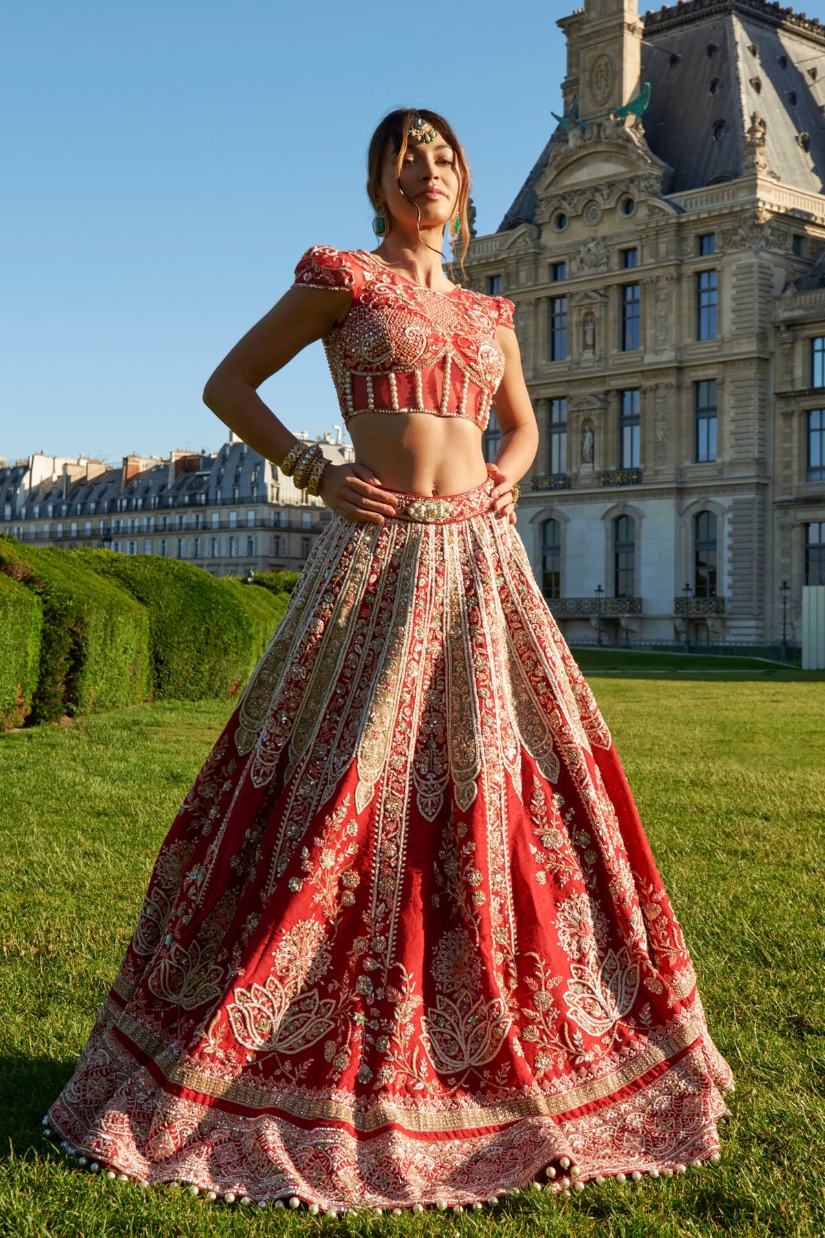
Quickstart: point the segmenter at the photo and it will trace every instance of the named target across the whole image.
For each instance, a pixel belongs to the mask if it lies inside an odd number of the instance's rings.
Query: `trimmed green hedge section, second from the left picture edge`
[[[79,552],[0,537],[0,571],[43,607],[31,722],[57,722],[145,701],[150,691],[148,618],[126,589],[101,581]]]

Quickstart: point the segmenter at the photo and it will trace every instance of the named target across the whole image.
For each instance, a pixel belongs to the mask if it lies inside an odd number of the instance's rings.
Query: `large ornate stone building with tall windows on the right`
[[[564,116],[466,260],[516,305],[537,578],[571,640],[758,645],[787,582],[795,640],[825,583],[825,26],[764,0],[558,25]]]

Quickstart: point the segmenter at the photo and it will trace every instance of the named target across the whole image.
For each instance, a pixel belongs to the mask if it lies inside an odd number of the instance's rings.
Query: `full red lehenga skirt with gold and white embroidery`
[[[318,539],[45,1119],[75,1153],[313,1211],[716,1159],[730,1068],[491,485]]]

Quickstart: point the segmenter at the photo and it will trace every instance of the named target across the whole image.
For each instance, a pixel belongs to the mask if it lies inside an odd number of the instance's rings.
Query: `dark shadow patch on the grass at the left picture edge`
[[[75,1058],[0,1056],[0,1160],[43,1144],[43,1115],[68,1083]]]

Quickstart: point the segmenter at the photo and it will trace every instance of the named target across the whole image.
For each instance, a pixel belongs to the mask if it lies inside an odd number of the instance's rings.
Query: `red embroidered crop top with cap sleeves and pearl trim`
[[[329,245],[307,250],[296,286],[353,292],[345,318],[324,335],[345,423],[359,412],[429,412],[486,430],[505,373],[496,328],[512,328],[511,301],[435,292],[366,250]]]

